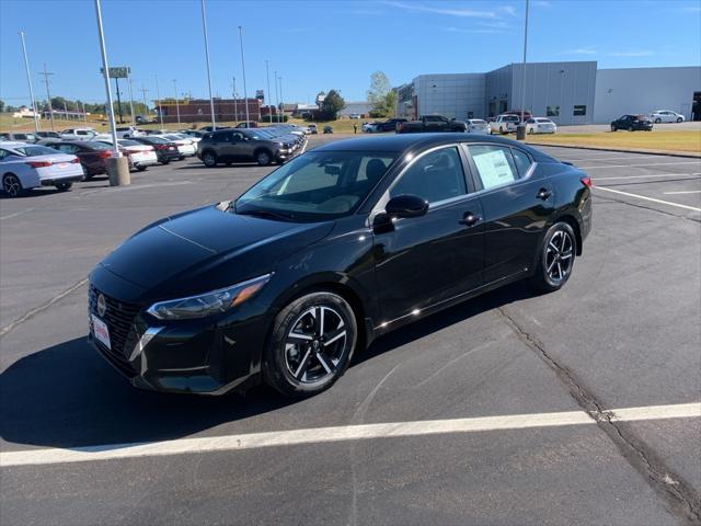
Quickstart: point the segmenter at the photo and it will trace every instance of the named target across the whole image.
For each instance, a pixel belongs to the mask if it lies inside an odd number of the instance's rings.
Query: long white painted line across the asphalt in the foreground
[[[673,405],[624,408],[590,415],[584,411],[513,414],[474,419],[428,420],[383,424],[341,425],[307,430],[273,431],[241,435],[181,438],[146,444],[106,444],[73,449],[45,448],[0,453],[0,467],[37,466],[65,462],[87,462],[137,457],[184,455],[195,453],[257,449],[263,447],[324,444],[342,441],[368,441],[452,433],[476,433],[505,430],[528,430],[562,425],[594,424],[610,419],[634,422],[701,416],[701,402]]]

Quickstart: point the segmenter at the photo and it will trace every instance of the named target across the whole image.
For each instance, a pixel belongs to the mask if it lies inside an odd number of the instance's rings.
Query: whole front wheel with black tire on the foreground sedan
[[[345,373],[357,334],[353,309],[341,296],[329,291],[301,296],[273,321],[263,353],[263,379],[288,397],[318,395]]]

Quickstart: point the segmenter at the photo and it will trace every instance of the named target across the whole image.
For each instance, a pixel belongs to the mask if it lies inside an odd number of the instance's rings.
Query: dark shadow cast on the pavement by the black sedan
[[[532,296],[522,283],[490,293],[378,339],[354,364]],[[26,356],[0,375],[0,436],[49,447],[165,441],[294,403],[264,387],[223,397],[142,391],[79,338]]]

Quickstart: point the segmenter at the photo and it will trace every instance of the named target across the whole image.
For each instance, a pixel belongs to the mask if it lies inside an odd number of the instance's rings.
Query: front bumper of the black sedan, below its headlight
[[[106,301],[103,316],[96,308],[101,294]],[[135,387],[222,395],[258,381],[267,327],[264,317],[164,323],[147,315],[146,307],[107,296],[91,282],[88,340]],[[95,338],[93,316],[106,323],[110,347]]]

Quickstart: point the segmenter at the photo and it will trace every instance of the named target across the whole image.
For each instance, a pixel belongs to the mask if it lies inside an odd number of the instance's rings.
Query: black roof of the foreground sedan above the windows
[[[441,145],[451,145],[455,142],[491,142],[503,146],[516,146],[522,150],[529,151],[533,157],[548,158],[545,153],[531,148],[521,142],[490,135],[474,134],[397,134],[389,137],[363,137],[354,139],[345,139],[327,142],[323,146],[314,148],[310,151],[382,151],[392,153],[403,153],[407,150],[423,150]]]

